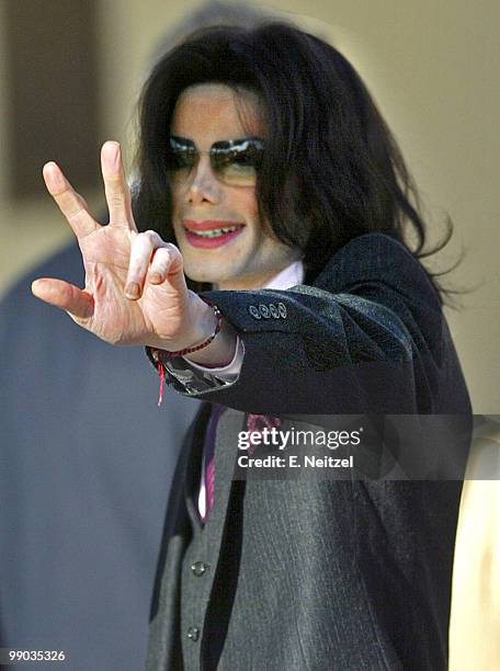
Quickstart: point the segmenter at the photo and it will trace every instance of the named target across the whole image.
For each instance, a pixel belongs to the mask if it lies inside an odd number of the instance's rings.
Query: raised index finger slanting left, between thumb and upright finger
[[[56,201],[77,238],[82,238],[99,228],[100,225],[90,215],[86,202],[65,178],[57,163],[54,161],[45,163],[43,175],[48,193]]]

